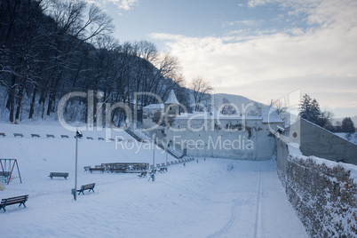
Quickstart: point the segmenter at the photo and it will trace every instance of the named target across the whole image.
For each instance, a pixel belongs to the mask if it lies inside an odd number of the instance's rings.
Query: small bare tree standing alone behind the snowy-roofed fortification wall
[[[210,87],[210,83],[207,80],[198,76],[192,81],[190,89],[194,94],[194,111],[202,110],[202,105],[210,99],[210,93],[213,88]]]

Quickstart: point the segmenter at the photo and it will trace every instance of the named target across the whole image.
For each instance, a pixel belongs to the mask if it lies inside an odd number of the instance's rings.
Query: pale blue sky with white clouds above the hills
[[[357,115],[356,0],[97,0],[120,42],[178,57],[186,82],[262,103],[301,90]]]

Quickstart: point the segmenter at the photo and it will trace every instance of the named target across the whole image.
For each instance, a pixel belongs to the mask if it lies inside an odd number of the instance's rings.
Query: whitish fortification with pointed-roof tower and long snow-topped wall
[[[221,115],[217,110],[180,115],[178,107],[173,91],[164,105],[144,107],[147,135],[188,156],[266,160],[276,151],[274,132],[283,121],[272,106],[259,116]]]

